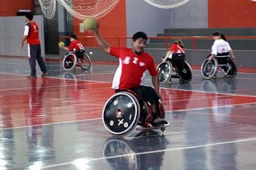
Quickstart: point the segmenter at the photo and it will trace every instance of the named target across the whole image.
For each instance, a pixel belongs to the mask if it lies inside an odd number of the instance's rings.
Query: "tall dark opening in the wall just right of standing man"
[[[57,10],[56,10],[57,11]],[[43,15],[39,1],[34,0],[34,14]],[[45,54],[59,54],[59,27],[58,14],[56,12],[53,19],[44,18]]]

